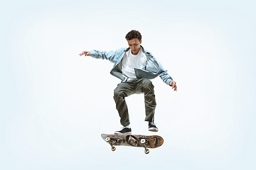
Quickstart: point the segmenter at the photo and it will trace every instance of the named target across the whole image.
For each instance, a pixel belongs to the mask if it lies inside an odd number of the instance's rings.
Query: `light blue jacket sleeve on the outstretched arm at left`
[[[117,57],[119,56],[119,53],[122,52],[123,49],[119,49],[116,51],[100,51],[100,50],[91,50],[90,51],[90,57],[94,57],[96,59],[102,59],[102,60],[110,60],[110,62],[114,63],[117,60]]]

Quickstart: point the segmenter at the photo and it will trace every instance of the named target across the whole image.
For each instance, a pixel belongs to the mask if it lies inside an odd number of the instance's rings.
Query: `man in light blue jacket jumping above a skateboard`
[[[149,122],[149,131],[158,132],[154,123],[156,100],[154,86],[149,79],[159,76],[164,83],[172,86],[177,91],[176,82],[167,73],[161,64],[154,58],[151,52],[142,47],[142,35],[137,30],[131,30],[125,36],[128,48],[121,48],[116,51],[102,52],[99,50],[83,51],[80,56],[91,56],[97,59],[110,60],[114,63],[110,74],[121,79],[121,83],[114,89],[114,101],[119,113],[120,123],[123,128],[114,134],[131,134],[129,126],[129,114],[125,97],[132,94],[144,93],[145,121]]]

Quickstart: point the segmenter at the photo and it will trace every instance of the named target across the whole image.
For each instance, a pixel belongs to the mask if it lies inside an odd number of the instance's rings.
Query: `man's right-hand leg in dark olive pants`
[[[154,113],[156,109],[156,98],[154,95],[154,85],[149,79],[138,79],[136,84],[136,93],[144,93],[145,121],[154,122]]]

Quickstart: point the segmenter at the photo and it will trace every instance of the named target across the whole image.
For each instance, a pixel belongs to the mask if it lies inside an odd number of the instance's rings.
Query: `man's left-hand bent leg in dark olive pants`
[[[122,82],[114,89],[114,101],[119,113],[120,123],[123,126],[129,125],[129,114],[125,97],[134,94],[134,88],[131,81]]]

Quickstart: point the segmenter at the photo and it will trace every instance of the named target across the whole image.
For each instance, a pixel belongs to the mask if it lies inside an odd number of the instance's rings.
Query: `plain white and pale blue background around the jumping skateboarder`
[[[1,2],[0,169],[255,169],[255,1]],[[158,133],[143,95],[127,98],[132,132],[164,137],[117,147],[112,63],[83,50],[128,47],[142,33],[178,91],[159,77]]]

